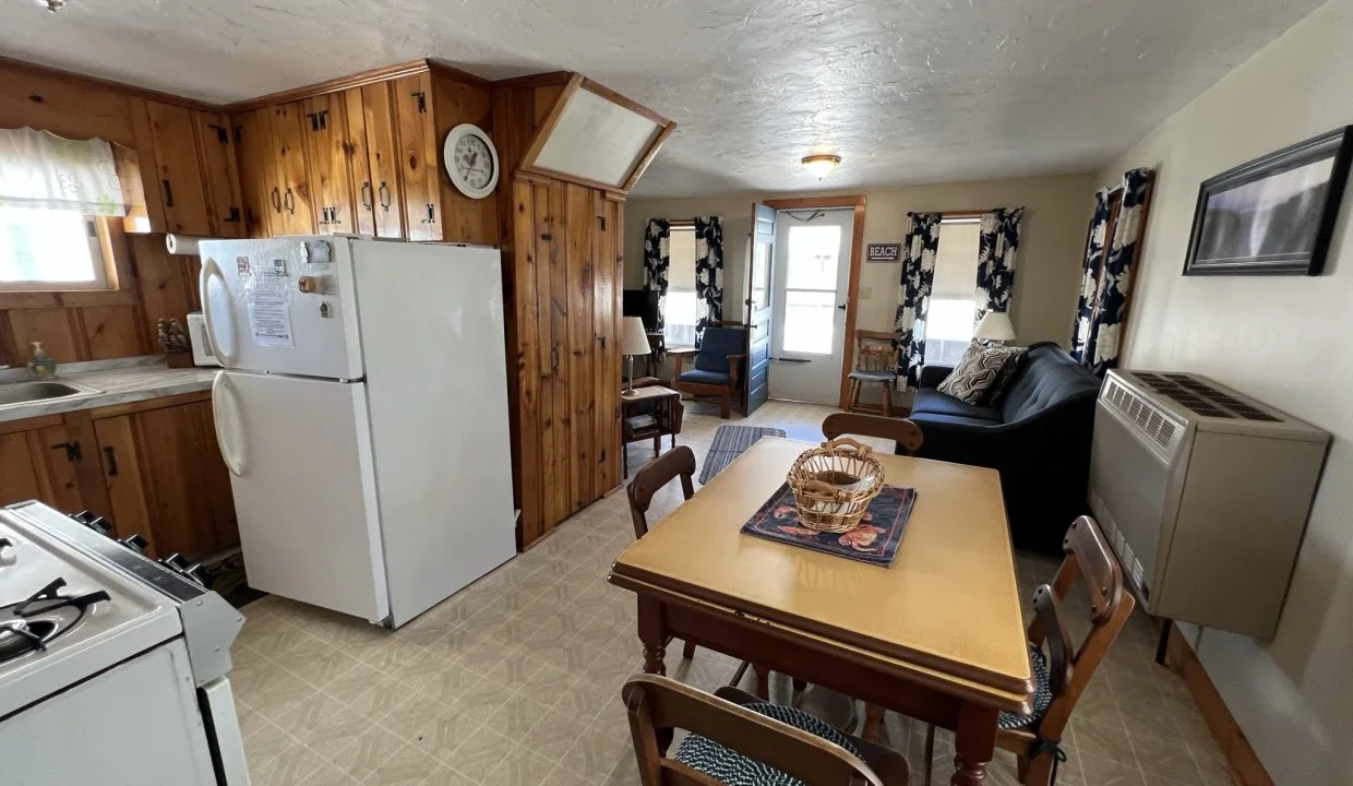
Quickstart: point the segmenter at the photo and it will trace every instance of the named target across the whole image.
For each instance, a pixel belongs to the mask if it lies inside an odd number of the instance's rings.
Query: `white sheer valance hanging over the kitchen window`
[[[122,216],[129,202],[108,142],[0,129],[0,207]]]

